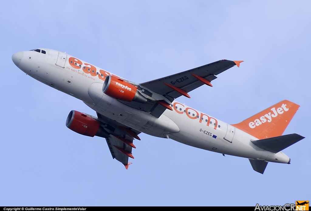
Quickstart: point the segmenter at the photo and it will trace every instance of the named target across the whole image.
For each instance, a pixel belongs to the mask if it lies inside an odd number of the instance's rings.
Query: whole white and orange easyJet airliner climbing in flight
[[[245,119],[227,124],[179,103],[180,96],[202,86],[212,87],[216,75],[243,61],[220,60],[145,83],[134,83],[56,50],[37,48],[13,54],[14,64],[32,78],[82,100],[97,117],[69,112],[66,126],[74,132],[106,139],[113,159],[126,169],[134,159],[134,139],[143,132],[183,144],[248,158],[264,173],[268,162],[290,164],[281,150],[302,140],[282,135],[299,108],[283,100]]]

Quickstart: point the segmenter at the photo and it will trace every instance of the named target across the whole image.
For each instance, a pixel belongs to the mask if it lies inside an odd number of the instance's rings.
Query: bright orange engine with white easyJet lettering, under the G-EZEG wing
[[[103,92],[110,97],[126,102],[147,102],[147,98],[138,92],[137,87],[114,75],[107,76],[104,81]]]

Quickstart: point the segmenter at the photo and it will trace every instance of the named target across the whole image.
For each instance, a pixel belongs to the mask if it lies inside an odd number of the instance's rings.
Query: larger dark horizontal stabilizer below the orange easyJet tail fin
[[[302,139],[304,139],[303,136],[293,133],[293,134],[284,135],[284,136],[277,136],[277,137],[272,137],[272,138],[256,140],[256,141],[252,141],[252,143],[262,148],[263,150],[277,153],[289,147],[290,145],[295,144],[296,142]]]

